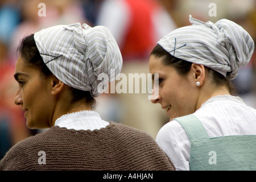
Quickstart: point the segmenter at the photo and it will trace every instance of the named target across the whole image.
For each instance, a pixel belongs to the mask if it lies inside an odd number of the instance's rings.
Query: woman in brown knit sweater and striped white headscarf
[[[82,26],[49,27],[20,44],[15,104],[28,127],[49,129],[13,146],[0,169],[174,170],[150,135],[93,111],[107,85],[98,76],[119,73],[122,56],[108,28]]]

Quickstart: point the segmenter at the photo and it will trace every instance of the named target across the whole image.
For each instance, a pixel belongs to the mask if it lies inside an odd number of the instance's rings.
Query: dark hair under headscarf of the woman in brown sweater
[[[48,77],[53,75],[47,65],[44,63],[40,52],[36,47],[34,34],[28,35],[22,39],[22,42],[18,47],[18,53],[22,57],[25,64],[39,69],[42,76]],[[75,89],[71,86],[70,89],[72,93],[72,103],[83,100],[86,102],[86,104],[89,104],[92,109],[94,109],[96,106],[96,100],[91,96],[89,91]]]

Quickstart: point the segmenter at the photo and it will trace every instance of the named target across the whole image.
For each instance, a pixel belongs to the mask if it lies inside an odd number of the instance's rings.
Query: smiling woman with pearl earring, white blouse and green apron
[[[256,110],[231,82],[249,63],[254,41],[227,19],[189,21],[151,52],[150,73],[159,74],[152,103],[170,117],[156,142],[177,170],[255,170]]]

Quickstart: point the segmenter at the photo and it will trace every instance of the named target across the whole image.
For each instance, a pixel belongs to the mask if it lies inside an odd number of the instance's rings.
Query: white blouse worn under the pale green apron
[[[256,109],[240,97],[216,96],[196,110],[210,138],[226,135],[256,135]],[[156,142],[178,171],[189,170],[191,142],[179,122],[173,120],[159,130]]]

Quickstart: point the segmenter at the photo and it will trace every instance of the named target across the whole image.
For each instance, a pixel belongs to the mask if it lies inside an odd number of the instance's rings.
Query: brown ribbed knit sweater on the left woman
[[[42,158],[44,164],[39,164]],[[106,128],[93,131],[53,126],[12,147],[1,160],[0,169],[147,171],[175,167],[150,135],[110,122]]]

